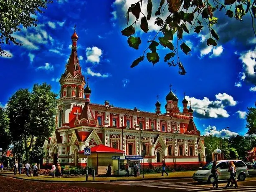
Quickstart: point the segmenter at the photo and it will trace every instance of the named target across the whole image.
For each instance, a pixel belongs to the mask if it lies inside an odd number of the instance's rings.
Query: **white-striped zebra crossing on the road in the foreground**
[[[238,189],[234,187],[225,188],[225,183],[219,183],[218,189],[213,189],[210,184],[199,184],[198,182],[172,182],[172,181],[125,181],[125,182],[110,182],[108,184],[113,185],[129,185],[134,187],[155,187],[164,191],[177,190],[177,191],[189,191],[189,192],[255,192],[256,185],[244,186],[239,184]]]

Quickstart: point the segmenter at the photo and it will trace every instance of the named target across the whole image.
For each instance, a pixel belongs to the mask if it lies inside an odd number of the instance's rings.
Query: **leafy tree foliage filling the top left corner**
[[[52,0],[4,0],[0,1],[0,55],[8,55],[1,48],[2,44],[10,45],[12,42],[15,45],[22,45],[18,43],[16,38],[13,37],[13,33],[20,31],[21,26],[24,28],[37,26],[33,15],[37,13],[43,13],[43,9],[47,8],[49,3],[53,3]]]

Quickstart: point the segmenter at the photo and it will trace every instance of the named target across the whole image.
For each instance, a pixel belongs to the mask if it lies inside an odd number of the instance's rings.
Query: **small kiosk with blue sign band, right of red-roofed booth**
[[[112,157],[113,173],[114,175],[124,176],[126,174],[125,165],[128,163],[129,175],[134,175],[133,167],[136,162],[139,167],[139,172],[137,175],[140,175],[142,160],[143,157],[140,155],[114,156]]]

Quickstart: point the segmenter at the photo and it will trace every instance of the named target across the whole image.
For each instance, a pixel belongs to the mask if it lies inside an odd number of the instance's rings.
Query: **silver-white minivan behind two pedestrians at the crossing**
[[[217,169],[221,173],[218,175],[218,180],[226,180],[230,177],[230,172],[228,172],[228,163],[235,162],[236,165],[236,178],[239,181],[244,181],[248,177],[248,169],[246,164],[241,160],[221,160],[217,161]],[[213,162],[210,162],[200,168],[197,172],[193,174],[193,179],[198,182],[208,182],[213,183],[214,177],[211,173]]]

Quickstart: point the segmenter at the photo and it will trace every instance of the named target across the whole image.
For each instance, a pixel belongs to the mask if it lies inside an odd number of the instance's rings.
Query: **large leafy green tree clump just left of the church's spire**
[[[8,102],[10,134],[15,154],[29,161],[30,152],[51,135],[55,125],[56,96],[51,86],[34,84],[33,91],[20,89]],[[36,152],[37,153],[37,152]],[[40,158],[39,158],[40,159]]]

